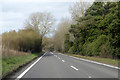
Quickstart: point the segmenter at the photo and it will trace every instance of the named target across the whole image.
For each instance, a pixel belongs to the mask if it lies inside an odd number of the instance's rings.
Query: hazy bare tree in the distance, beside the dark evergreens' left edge
[[[71,21],[67,18],[62,18],[60,23],[57,25],[54,37],[54,49],[63,51],[65,34],[69,33]]]

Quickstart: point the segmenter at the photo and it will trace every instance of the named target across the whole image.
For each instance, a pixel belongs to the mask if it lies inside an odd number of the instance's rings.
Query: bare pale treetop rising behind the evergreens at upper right
[[[79,17],[83,17],[85,10],[88,9],[89,6],[90,6],[90,2],[83,2],[82,0],[70,6],[69,12],[72,15],[73,21],[78,21]]]

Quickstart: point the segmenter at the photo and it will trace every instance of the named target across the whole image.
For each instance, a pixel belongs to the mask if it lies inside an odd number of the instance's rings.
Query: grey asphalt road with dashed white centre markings
[[[46,52],[21,78],[118,78],[118,69]]]

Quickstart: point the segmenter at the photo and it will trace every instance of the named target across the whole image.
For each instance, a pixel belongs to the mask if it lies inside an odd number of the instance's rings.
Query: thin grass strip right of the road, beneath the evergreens
[[[78,58],[83,58],[83,59],[88,59],[96,62],[101,62],[113,66],[118,66],[118,62],[120,63],[120,60],[114,60],[114,59],[109,59],[109,58],[100,58],[100,57],[89,57],[89,56],[81,56],[81,55],[75,55],[75,54],[67,54],[70,56],[78,57]]]

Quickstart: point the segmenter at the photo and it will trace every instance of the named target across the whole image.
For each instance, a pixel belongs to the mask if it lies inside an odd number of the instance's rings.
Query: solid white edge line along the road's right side
[[[59,54],[62,54],[62,53],[59,53]],[[65,55],[65,54],[62,54],[62,55]],[[77,58],[77,57],[74,57],[74,56],[69,56],[69,57],[72,57],[72,58],[75,58],[75,59],[80,59],[80,60],[86,61],[86,62],[91,62],[91,63],[107,66],[107,67],[110,67],[110,68],[120,69],[119,67],[108,65],[108,64],[104,64],[104,63],[99,63],[99,62],[96,62],[96,61],[91,61],[91,60],[87,60],[87,59]]]

